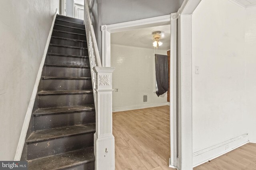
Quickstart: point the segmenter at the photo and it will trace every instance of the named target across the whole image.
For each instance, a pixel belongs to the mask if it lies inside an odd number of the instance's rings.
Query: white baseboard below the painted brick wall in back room
[[[152,103],[152,104],[142,104],[142,105],[135,105],[135,106],[125,106],[125,107],[113,107],[112,111],[127,111],[127,110],[135,110],[135,109],[144,109],[148,107],[158,107],[158,106],[166,106],[167,102],[163,103]]]

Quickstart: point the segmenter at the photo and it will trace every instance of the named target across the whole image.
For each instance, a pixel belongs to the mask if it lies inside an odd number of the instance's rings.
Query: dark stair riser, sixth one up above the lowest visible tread
[[[48,55],[45,60],[46,64],[64,64],[64,65],[77,65],[77,66],[89,66],[89,58],[78,57],[64,57]]]

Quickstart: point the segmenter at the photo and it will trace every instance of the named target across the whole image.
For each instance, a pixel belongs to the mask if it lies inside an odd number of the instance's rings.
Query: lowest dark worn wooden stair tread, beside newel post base
[[[28,168],[31,170],[58,170],[86,164],[94,160],[94,149],[93,147],[88,147],[63,154],[29,160]]]

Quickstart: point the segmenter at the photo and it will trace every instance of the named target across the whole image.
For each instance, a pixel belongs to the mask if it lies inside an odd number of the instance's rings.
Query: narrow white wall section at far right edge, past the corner
[[[256,143],[256,8],[246,10],[245,27],[246,111],[249,141]]]

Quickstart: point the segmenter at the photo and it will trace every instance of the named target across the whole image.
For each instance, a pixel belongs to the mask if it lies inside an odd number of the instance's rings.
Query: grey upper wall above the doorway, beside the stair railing
[[[94,0],[92,16],[101,55],[101,25],[141,20],[177,12],[178,0]]]

